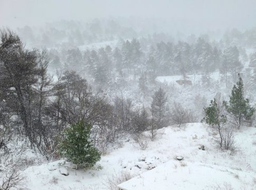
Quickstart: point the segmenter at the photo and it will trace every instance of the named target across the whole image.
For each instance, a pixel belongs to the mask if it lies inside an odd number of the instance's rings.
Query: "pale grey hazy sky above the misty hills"
[[[202,30],[256,25],[256,0],[0,0],[0,26],[101,17],[163,18]]]

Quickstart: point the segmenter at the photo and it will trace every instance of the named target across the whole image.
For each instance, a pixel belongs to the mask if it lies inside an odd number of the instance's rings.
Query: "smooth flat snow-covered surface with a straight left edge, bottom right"
[[[234,189],[242,189],[250,185],[256,187],[254,172],[197,162],[186,162],[185,166],[181,163],[170,160],[118,187],[124,190],[217,189],[224,184]]]

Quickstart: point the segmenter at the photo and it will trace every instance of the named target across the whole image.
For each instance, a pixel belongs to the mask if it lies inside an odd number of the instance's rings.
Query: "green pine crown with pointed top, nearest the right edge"
[[[242,120],[250,120],[255,111],[249,104],[249,99],[244,98],[243,80],[239,76],[239,81],[234,84],[231,92],[229,103],[224,101],[227,112],[231,113],[234,117],[238,129],[241,126]]]

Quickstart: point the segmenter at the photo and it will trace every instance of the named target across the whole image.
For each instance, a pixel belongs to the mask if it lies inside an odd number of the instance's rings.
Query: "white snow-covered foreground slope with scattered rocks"
[[[256,189],[256,128],[242,127],[236,131],[235,152],[217,148],[208,135],[207,126],[200,123],[159,129],[156,140],[146,139],[148,147],[145,150],[141,150],[131,139],[124,140],[120,148],[102,156],[98,163],[103,167],[101,170],[72,169],[72,165],[64,160],[29,167],[24,170],[27,187],[39,190],[107,189],[108,178],[129,172],[139,176],[139,183],[150,183],[147,185],[151,187],[155,182],[166,179],[169,189],[218,189],[215,188],[217,185],[231,185],[232,189]],[[201,145],[205,146],[205,150],[198,149]],[[176,156],[183,156],[184,164],[175,160]],[[155,171],[159,171],[156,180],[145,178],[141,181],[140,178],[150,174],[145,172],[154,167]],[[69,175],[64,176],[60,171]],[[150,171],[154,172],[154,169]],[[170,176],[164,176],[166,172]]]

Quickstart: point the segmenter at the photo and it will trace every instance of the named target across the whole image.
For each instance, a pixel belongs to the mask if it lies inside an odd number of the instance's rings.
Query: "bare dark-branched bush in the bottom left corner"
[[[12,168],[10,172],[2,174],[0,190],[26,189],[24,180],[25,176],[18,172],[17,168]]]

